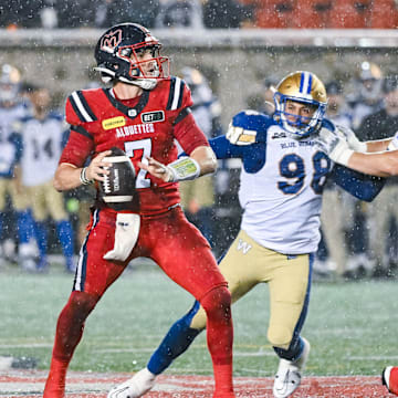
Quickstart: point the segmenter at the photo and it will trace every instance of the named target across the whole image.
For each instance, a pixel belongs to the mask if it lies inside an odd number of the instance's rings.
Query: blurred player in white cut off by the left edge
[[[30,243],[33,235],[32,218],[28,209],[27,195],[18,184],[17,164],[21,156],[21,136],[15,133],[14,124],[28,112],[27,104],[19,96],[19,71],[4,64],[0,71],[0,243],[3,243],[6,230],[17,222],[19,261],[29,269],[34,247]],[[7,196],[11,199],[13,218],[4,211]],[[0,247],[0,261],[3,260]]]

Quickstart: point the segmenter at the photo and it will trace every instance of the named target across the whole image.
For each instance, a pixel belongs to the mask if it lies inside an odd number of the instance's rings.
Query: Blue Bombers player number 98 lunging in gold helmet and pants
[[[310,72],[294,72],[277,85],[275,113],[238,113],[227,136],[210,140],[218,158],[241,158],[241,230],[220,262],[232,302],[259,283],[270,289],[268,339],[280,365],[273,394],[289,397],[301,383],[310,343],[301,336],[311,289],[314,252],[320,241],[322,189],[331,175],[343,188],[370,200],[383,182],[348,176],[314,145],[321,128],[335,129],[324,119],[326,91]],[[349,179],[349,184],[347,180]],[[177,321],[146,368],[108,398],[136,398],[148,391],[164,371],[206,327],[198,302]]]

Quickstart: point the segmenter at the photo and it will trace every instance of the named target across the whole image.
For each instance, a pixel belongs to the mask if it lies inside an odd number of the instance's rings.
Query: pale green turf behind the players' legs
[[[33,356],[48,368],[59,312],[73,276],[59,270],[29,275],[0,271],[0,355]],[[303,335],[312,344],[307,375],[379,375],[398,363],[397,281],[315,282]],[[145,366],[191,297],[150,263],[128,270],[86,323],[71,369],[133,371]],[[268,289],[233,306],[235,376],[272,376],[277,359],[266,341]],[[202,334],[170,374],[211,374]]]

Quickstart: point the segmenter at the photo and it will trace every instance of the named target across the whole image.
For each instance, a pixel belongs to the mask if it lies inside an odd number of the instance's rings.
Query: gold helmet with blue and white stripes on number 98
[[[311,117],[293,115],[287,112],[286,104],[297,102],[314,109]],[[282,78],[274,93],[274,119],[282,128],[295,138],[307,137],[317,133],[327,107],[326,90],[321,80],[311,72],[293,72]],[[294,116],[289,119],[289,116]]]

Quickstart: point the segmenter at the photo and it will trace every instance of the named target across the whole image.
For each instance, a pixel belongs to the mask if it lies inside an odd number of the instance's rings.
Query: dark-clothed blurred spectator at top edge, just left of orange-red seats
[[[243,6],[238,0],[202,0],[203,22],[206,28],[228,29],[252,20],[252,7]]]

